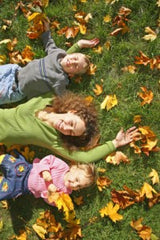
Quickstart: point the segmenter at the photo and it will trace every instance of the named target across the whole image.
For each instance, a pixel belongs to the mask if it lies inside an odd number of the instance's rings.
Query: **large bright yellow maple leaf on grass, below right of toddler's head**
[[[119,210],[119,205],[113,202],[109,202],[106,207],[102,208],[99,212],[101,217],[108,216],[113,222],[120,221],[123,219],[123,216],[117,213]]]

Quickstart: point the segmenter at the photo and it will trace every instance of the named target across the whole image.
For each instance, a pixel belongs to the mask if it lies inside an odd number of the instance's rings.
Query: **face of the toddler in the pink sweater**
[[[65,175],[65,186],[72,190],[79,190],[90,185],[89,179],[85,176],[83,169],[72,166]]]

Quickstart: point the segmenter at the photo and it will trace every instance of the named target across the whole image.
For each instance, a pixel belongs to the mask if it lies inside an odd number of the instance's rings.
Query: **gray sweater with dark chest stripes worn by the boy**
[[[19,89],[28,99],[49,91],[61,95],[69,83],[60,65],[66,52],[55,45],[50,31],[42,34],[42,41],[47,56],[31,61],[18,74]]]

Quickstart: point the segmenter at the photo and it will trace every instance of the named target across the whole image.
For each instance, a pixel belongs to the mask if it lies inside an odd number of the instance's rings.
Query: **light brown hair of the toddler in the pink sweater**
[[[87,187],[89,187],[90,185],[94,184],[97,180],[97,171],[95,168],[95,165],[92,163],[89,164],[84,164],[84,163],[78,163],[72,166],[77,166],[77,168],[81,169],[84,171],[84,176],[86,178],[88,178],[88,185]]]

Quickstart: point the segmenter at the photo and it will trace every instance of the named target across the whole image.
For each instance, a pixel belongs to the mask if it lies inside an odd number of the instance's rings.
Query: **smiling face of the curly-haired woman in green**
[[[81,136],[85,131],[84,121],[73,112],[62,113],[54,122],[54,128],[64,135]]]

